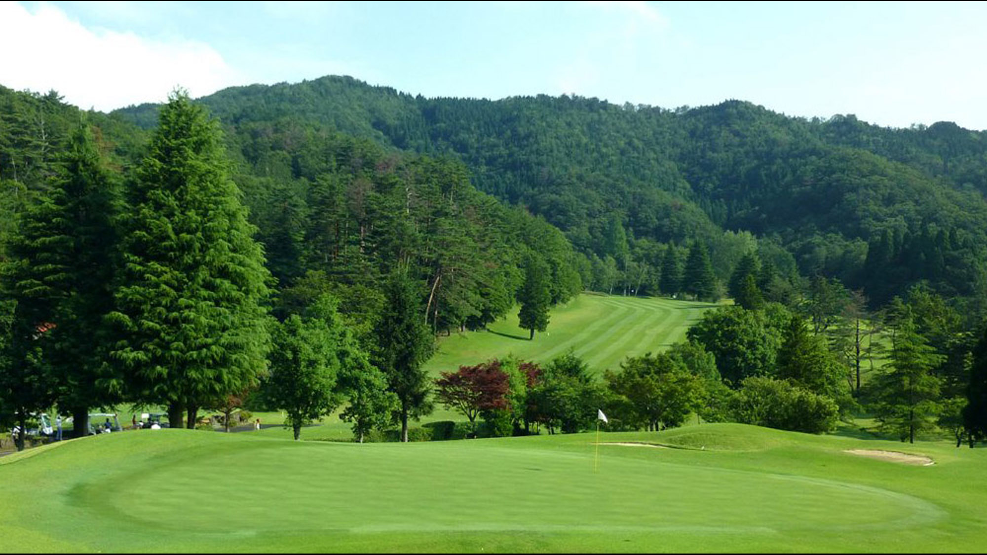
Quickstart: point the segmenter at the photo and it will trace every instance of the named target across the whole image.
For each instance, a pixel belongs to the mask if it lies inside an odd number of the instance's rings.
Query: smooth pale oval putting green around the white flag
[[[478,446],[474,446],[474,444]],[[708,531],[888,527],[935,519],[920,500],[798,476],[693,468],[585,453],[441,444],[272,443],[185,456],[113,484],[92,509],[117,515],[153,506],[146,524],[207,531],[230,506],[229,530],[551,530],[663,528]],[[238,448],[239,447],[239,448]],[[247,448],[244,448],[247,447]],[[232,469],[205,471],[205,468]],[[213,500],[224,500],[221,504]],[[271,501],[281,505],[269,510]],[[196,518],[184,518],[189,508]],[[142,515],[135,515],[142,518]],[[174,523],[168,526],[168,522]]]

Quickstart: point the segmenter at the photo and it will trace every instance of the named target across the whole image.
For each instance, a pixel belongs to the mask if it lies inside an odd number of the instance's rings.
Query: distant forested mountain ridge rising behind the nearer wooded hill
[[[564,230],[594,260],[597,288],[609,270],[610,287],[657,292],[667,246],[691,241],[710,246],[721,280],[756,248],[783,275],[794,257],[802,276],[840,278],[873,304],[921,280],[950,296],[987,285],[987,135],[953,123],[892,129],[738,101],[669,111],[568,96],[426,99],[346,77],[200,102],[244,147],[303,127],[453,155],[479,190]],[[114,117],[146,126],[153,114]],[[256,173],[274,172],[259,160]]]

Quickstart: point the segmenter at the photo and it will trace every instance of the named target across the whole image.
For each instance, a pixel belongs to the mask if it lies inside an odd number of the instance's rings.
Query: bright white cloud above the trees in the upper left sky
[[[0,2],[0,52],[0,84],[54,89],[84,110],[162,102],[176,86],[198,97],[244,81],[208,44],[90,30],[45,4],[32,12]]]

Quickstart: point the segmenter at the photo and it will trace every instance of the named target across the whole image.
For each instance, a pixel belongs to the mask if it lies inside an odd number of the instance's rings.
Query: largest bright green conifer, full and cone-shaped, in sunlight
[[[172,427],[256,383],[269,343],[269,274],[229,177],[215,121],[177,92],[130,188],[113,357],[132,399]]]

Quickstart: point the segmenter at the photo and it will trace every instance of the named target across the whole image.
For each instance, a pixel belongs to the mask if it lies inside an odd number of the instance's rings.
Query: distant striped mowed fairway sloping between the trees
[[[487,331],[453,334],[439,340],[439,351],[426,364],[432,373],[455,370],[494,357],[513,355],[548,362],[571,349],[594,372],[616,369],[628,356],[666,349],[683,341],[703,312],[717,305],[667,298],[582,294],[552,310],[547,333],[533,341],[517,323],[517,310]]]

